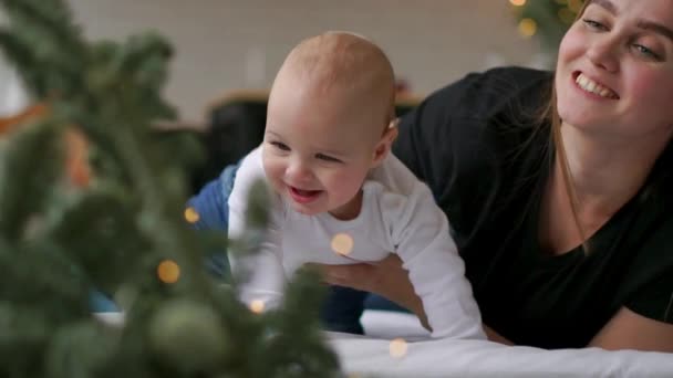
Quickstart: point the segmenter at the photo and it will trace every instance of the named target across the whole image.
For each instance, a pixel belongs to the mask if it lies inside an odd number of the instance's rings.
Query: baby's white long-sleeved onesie
[[[261,147],[248,154],[236,174],[229,197],[229,235],[244,231],[250,185],[265,178]],[[286,280],[302,264],[375,262],[396,253],[408,271],[433,337],[486,338],[482,317],[465,277],[465,266],[449,235],[448,221],[428,187],[392,154],[363,185],[358,218],[342,221],[330,213],[306,216],[273,196],[267,242],[251,258],[232,259],[234,271],[245,263],[249,281],[239,287],[241,301],[280,303]],[[348,235],[348,255],[334,252],[335,235]],[[349,238],[346,238],[349,239]]]

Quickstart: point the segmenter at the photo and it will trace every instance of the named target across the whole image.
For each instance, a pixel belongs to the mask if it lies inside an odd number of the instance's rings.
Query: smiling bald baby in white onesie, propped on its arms
[[[433,337],[485,338],[444,212],[391,154],[394,97],[389,59],[362,36],[328,32],[290,52],[271,87],[263,141],[242,159],[229,197],[236,238],[250,185],[266,178],[273,189],[267,242],[259,254],[232,261],[251,275],[239,295],[272,307],[304,263],[375,263],[392,252]]]

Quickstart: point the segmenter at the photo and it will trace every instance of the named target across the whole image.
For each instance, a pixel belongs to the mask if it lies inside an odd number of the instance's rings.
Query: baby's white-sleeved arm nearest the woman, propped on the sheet
[[[393,240],[423,301],[432,336],[485,339],[479,308],[448,221],[424,183],[418,182],[407,198]]]

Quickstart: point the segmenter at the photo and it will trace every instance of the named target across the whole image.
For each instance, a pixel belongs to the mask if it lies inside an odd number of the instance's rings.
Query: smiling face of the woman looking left
[[[673,0],[594,0],[561,42],[558,112],[605,138],[670,138]]]

